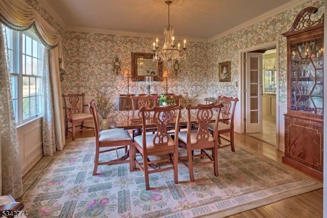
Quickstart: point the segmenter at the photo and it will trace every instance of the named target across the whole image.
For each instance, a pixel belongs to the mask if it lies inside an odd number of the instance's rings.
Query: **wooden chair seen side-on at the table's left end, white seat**
[[[98,119],[98,112],[95,100],[89,102],[89,108],[94,121],[95,135],[96,135],[96,155],[94,161],[93,176],[97,174],[98,165],[111,165],[129,162],[129,169],[132,171],[132,151],[128,150],[133,148],[132,138],[128,130],[123,128],[105,129],[100,132],[100,122]],[[107,149],[103,149],[107,148]],[[125,155],[119,157],[118,150],[125,149]],[[117,159],[99,161],[100,154],[104,152],[115,151]],[[129,158],[129,160],[126,160]]]

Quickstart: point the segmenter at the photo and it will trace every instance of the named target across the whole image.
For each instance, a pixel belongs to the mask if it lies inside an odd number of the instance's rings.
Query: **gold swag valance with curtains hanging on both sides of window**
[[[9,28],[17,31],[24,31],[28,30],[31,27],[33,27],[36,31],[36,34],[38,35],[39,39],[42,41],[45,47],[50,49],[50,59],[49,59],[49,71],[50,75],[49,78],[45,78],[43,82],[43,85],[51,87],[50,89],[43,90],[46,95],[45,96],[45,102],[44,102],[44,117],[43,117],[43,150],[44,155],[53,155],[56,151],[56,148],[58,150],[62,150],[65,138],[64,138],[64,122],[63,122],[63,110],[62,110],[62,101],[61,101],[61,88],[60,88],[60,72],[59,72],[59,58],[62,60],[62,68],[64,68],[63,65],[63,56],[62,56],[62,48],[60,43],[60,34],[58,31],[56,31],[50,24],[48,24],[31,6],[29,6],[25,1],[23,0],[1,0],[0,1],[0,21],[8,26]],[[2,34],[3,35],[3,34]],[[4,49],[2,49],[4,50]],[[5,64],[5,56],[3,55],[0,59],[0,65],[3,66]],[[8,77],[8,72],[6,73],[5,70],[3,70],[4,67],[1,68],[1,76]],[[3,82],[4,79],[1,77],[1,82]],[[7,84],[9,86],[9,84]],[[4,88],[3,88],[4,87]],[[49,88],[48,87],[48,88]],[[9,91],[8,91],[9,90]],[[7,92],[10,93],[10,89],[7,86],[3,86],[1,84],[1,92],[4,92],[4,94],[1,93],[0,100],[3,100],[3,104],[0,104],[0,108],[3,111],[9,111],[8,117],[6,120],[2,118],[3,113],[0,114],[0,122],[3,125],[6,124],[6,122],[9,119],[13,119],[13,108],[12,108],[12,98],[11,95],[9,95]],[[8,107],[7,108],[7,102]],[[4,106],[5,105],[5,106]],[[11,107],[10,107],[11,105]],[[11,115],[10,115],[11,113]],[[51,122],[51,123],[49,123]],[[3,134],[2,134],[2,147],[12,147],[11,149],[14,150],[12,152],[6,152],[5,158],[15,157],[13,158],[12,163],[6,162],[6,168],[11,171],[15,172],[14,174],[17,175],[17,177],[20,178],[20,184],[18,182],[18,178],[12,178],[11,185],[13,187],[21,186],[21,169],[20,169],[20,163],[19,163],[19,149],[18,148],[18,140],[15,139],[15,135],[12,135],[11,132],[16,132],[16,126],[9,126],[10,133],[7,134],[6,129],[3,128]],[[44,128],[48,128],[47,131],[44,132]],[[49,130],[49,128],[54,128]],[[49,132],[50,131],[50,132]],[[53,135],[50,135],[50,133],[55,133],[55,139],[53,138]],[[7,144],[7,138],[11,141],[11,144]],[[17,154],[15,153],[17,151]],[[2,154],[4,155],[4,150],[2,150]],[[10,154],[10,155],[8,155]],[[2,158],[2,164],[4,164],[4,161],[7,161],[7,159]],[[8,181],[4,181],[4,165],[2,165],[2,187],[4,187],[4,183],[8,183]],[[18,173],[16,173],[18,172]],[[6,172],[7,173],[7,172]],[[15,176],[14,175],[14,176]],[[17,180],[17,182],[16,182]],[[19,189],[17,189],[19,190]],[[3,189],[4,191],[4,189]],[[14,193],[14,190],[12,190],[11,193]],[[19,193],[17,193],[14,197],[18,198]]]

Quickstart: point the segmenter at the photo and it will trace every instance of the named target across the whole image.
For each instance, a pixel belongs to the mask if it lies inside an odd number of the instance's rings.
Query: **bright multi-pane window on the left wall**
[[[23,124],[42,115],[43,45],[32,32],[3,27],[8,41],[9,74],[15,121]]]

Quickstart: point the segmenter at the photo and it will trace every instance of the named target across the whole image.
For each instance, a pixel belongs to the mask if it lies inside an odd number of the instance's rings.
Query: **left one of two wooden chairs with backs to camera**
[[[142,135],[134,137],[133,147],[133,170],[136,166],[142,170],[145,177],[146,190],[150,189],[149,174],[155,172],[161,172],[165,170],[174,170],[174,183],[178,183],[178,125],[180,119],[181,106],[166,106],[153,108],[142,107],[140,109],[142,116]],[[147,134],[146,128],[148,120],[147,114],[150,113],[151,121],[154,123],[153,127],[156,128],[154,134]],[[176,138],[172,139],[168,134],[168,126],[174,122]],[[136,151],[141,154],[142,159],[138,160],[136,157]],[[160,156],[159,156],[160,155]],[[166,156],[167,155],[167,156]],[[149,156],[156,156],[151,161]],[[167,162],[172,165],[167,166]],[[151,168],[149,165],[164,163],[160,167]]]

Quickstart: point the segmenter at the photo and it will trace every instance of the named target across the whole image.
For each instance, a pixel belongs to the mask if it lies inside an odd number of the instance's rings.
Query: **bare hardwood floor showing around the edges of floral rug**
[[[84,131],[78,133],[76,138],[92,137],[94,131]],[[249,137],[245,134],[235,133],[235,142],[245,145],[261,154],[271,158],[278,163],[282,163],[283,151],[276,150],[276,148],[270,144],[267,144],[261,140]],[[71,140],[72,136],[68,134],[67,140]],[[228,149],[228,148],[223,148]],[[236,150],[237,152],[237,150]],[[294,169],[296,170],[296,169]],[[313,178],[314,179],[314,178]],[[238,213],[231,218],[239,217],[322,217],[323,211],[323,189],[318,189],[304,194],[299,194],[288,199],[284,199],[263,207],[248,210],[242,213]]]

